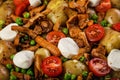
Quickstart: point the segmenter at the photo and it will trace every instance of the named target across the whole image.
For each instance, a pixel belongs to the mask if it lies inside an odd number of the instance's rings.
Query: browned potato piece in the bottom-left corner
[[[9,80],[9,71],[2,64],[0,64],[0,80]]]

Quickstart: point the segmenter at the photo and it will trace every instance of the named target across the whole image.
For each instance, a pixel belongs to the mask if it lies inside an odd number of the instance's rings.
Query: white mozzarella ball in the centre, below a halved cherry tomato
[[[79,47],[72,38],[62,38],[58,42],[58,48],[61,54],[66,58],[72,58],[79,52]]]

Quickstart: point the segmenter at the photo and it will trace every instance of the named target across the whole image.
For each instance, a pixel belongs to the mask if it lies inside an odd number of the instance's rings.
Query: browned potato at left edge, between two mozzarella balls
[[[3,56],[10,57],[14,53],[16,53],[16,49],[11,42],[0,40],[0,60]]]

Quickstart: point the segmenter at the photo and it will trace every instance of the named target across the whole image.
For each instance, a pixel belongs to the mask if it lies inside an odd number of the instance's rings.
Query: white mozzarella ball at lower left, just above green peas
[[[23,50],[15,54],[13,58],[13,63],[22,69],[27,69],[32,65],[33,59],[34,52]]]

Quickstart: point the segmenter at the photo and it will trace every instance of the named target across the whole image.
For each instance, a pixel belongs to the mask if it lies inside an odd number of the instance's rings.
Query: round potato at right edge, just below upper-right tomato
[[[110,24],[120,22],[120,10],[116,8],[109,9],[106,13],[105,20],[107,20]]]

